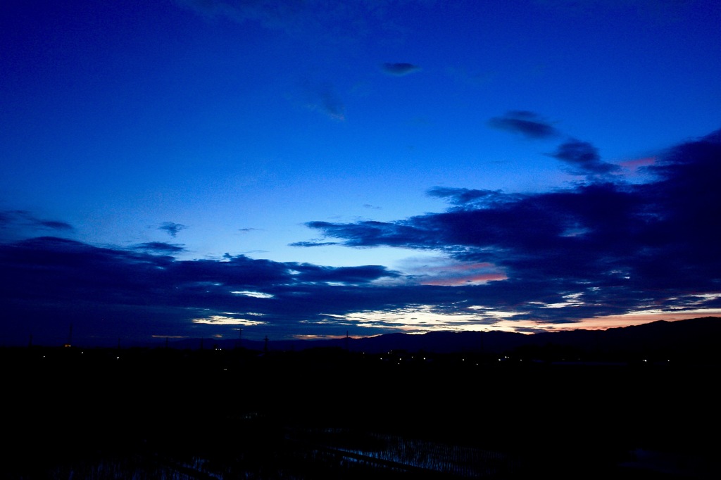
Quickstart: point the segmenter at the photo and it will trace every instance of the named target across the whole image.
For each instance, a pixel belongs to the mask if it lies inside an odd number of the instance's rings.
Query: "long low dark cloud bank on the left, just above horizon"
[[[0,304],[8,319],[1,337],[57,344],[69,323],[79,342],[106,345],[119,337],[232,335],[233,324],[222,322],[198,330],[193,320],[212,316],[262,321],[249,328],[249,338],[254,329],[260,338],[328,332],[332,325],[313,322],[388,303],[392,294],[371,285],[398,275],[376,265],[323,267],[244,255],[182,261],[167,255],[177,248],[162,242],[100,248],[57,237],[0,244]]]

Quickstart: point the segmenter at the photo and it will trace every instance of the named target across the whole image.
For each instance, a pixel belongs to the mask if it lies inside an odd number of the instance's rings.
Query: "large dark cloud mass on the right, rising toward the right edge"
[[[507,280],[464,292],[466,301],[511,308],[514,319],[684,308],[684,295],[721,291],[720,137],[668,149],[650,167],[655,180],[647,184],[599,181],[533,195],[437,188],[430,195],[463,208],[393,222],[307,225],[346,246],[440,250],[494,265]],[[588,143],[567,143],[558,156],[583,171],[611,171]],[[717,301],[702,298],[703,306]]]

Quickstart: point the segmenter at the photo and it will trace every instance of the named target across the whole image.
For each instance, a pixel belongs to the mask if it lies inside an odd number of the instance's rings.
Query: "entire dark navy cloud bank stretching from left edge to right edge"
[[[569,156],[599,161],[593,148],[578,151]],[[181,247],[163,242],[132,249],[50,236],[0,242],[0,304],[8,319],[0,337],[61,343],[72,323],[86,342],[113,345],[131,334],[232,337],[234,321],[249,322],[248,338],[278,338],[388,332],[398,327],[392,316],[407,311],[437,314],[435,326],[454,328],[443,319],[466,314],[492,324],[495,312],[513,312],[511,320],[568,324],[718,307],[721,132],[668,148],[648,168],[653,180],[644,184],[597,180],[523,195],[436,187],[429,195],[447,200],[445,211],[311,222],[329,240],[296,244],[445,254],[451,262],[435,277],[229,254],[180,260],[171,254]],[[34,217],[5,212],[0,223],[9,228],[17,218]]]

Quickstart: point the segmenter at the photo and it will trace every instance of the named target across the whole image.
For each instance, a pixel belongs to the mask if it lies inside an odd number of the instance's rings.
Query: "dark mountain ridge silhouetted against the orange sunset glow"
[[[716,361],[714,352],[721,338],[721,317],[707,316],[681,321],[653,321],[606,330],[567,330],[521,334],[514,332],[393,333],[365,338],[325,340],[275,340],[270,352],[337,348],[352,352],[382,354],[391,351],[437,354],[474,353],[513,355],[535,360],[650,360],[673,358]],[[183,339],[169,344],[180,349],[265,349],[265,342],[224,339]]]

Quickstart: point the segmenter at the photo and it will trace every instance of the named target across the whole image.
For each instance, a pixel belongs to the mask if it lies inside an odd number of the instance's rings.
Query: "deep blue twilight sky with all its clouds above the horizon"
[[[721,2],[0,5],[0,345],[721,315]]]

